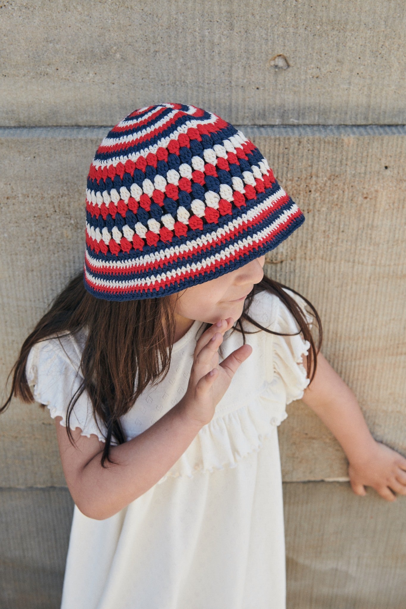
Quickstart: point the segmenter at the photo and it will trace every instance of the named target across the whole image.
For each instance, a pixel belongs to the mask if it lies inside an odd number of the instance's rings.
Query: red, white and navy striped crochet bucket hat
[[[173,294],[264,255],[303,222],[233,125],[189,105],[140,108],[90,166],[85,287],[106,300]]]

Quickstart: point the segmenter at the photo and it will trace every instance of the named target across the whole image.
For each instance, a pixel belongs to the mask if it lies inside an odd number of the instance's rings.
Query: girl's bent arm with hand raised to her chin
[[[69,442],[61,417],[55,418],[59,451],[66,484],[80,511],[97,520],[113,516],[146,493],[170,470],[195,435],[211,421],[234,373],[251,354],[243,345],[219,365],[219,347],[233,319],[221,320],[197,342],[191,376],[181,401],[142,434],[111,448],[111,460],[103,468],[103,443],[72,431]]]

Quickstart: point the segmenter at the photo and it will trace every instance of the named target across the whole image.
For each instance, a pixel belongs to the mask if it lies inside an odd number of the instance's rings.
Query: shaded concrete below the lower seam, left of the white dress
[[[72,511],[66,488],[0,489],[2,609],[60,607]]]

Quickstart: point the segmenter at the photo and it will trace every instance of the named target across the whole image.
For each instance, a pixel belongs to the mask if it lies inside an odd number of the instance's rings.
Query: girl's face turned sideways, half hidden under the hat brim
[[[244,300],[264,276],[265,256],[251,260],[245,266],[197,286],[178,292],[175,315],[180,322],[198,320],[217,323],[233,317],[236,321],[242,314]]]

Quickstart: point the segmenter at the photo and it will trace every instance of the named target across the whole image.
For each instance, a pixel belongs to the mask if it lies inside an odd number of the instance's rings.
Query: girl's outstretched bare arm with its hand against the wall
[[[306,357],[303,359],[306,368]],[[349,461],[349,480],[356,495],[365,495],[365,486],[373,487],[388,501],[394,501],[394,492],[406,495],[406,459],[374,440],[354,393],[321,353],[317,356],[315,377],[304,390],[302,400],[340,442]]]

